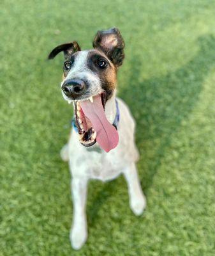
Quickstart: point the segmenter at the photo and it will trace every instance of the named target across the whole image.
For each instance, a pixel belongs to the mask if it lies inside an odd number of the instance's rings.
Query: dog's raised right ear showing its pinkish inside
[[[103,51],[115,67],[122,65],[124,59],[124,40],[117,28],[98,31],[94,40],[93,47]]]

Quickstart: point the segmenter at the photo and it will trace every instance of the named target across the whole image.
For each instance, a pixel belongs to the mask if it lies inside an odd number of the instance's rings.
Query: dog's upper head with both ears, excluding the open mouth
[[[98,31],[94,49],[81,51],[77,42],[58,45],[50,52],[53,59],[64,52],[61,89],[66,100],[85,100],[105,92],[111,97],[116,86],[117,68],[124,59],[124,40],[118,29]]]

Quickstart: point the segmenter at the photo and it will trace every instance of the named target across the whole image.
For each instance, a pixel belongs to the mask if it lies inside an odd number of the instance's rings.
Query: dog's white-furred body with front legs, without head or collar
[[[139,215],[145,209],[145,196],[142,193],[135,163],[138,160],[138,151],[135,146],[135,122],[126,104],[119,98],[120,121],[117,127],[119,144],[110,152],[101,150],[87,150],[78,140],[78,134],[71,131],[68,145],[63,148],[61,156],[69,161],[71,172],[71,191],[73,196],[73,225],[70,240],[75,250],[81,248],[87,239],[87,218],[85,204],[87,182],[90,179],[102,181],[115,179],[123,174],[128,182],[130,207]],[[105,115],[110,123],[115,117],[115,93],[107,101]],[[99,147],[98,143],[92,148]]]

